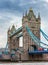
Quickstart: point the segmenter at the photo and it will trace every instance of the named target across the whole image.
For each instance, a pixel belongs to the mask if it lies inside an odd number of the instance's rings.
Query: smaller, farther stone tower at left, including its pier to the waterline
[[[14,55],[14,58],[10,57],[10,60],[11,61],[15,61],[15,60],[18,60],[16,58],[16,55],[18,55],[16,53],[16,48],[19,48],[19,38],[16,37],[16,35],[14,36],[11,36],[14,32],[16,31],[16,28],[15,26],[13,25],[12,28],[8,29],[8,49],[10,50],[10,54],[15,54]],[[11,36],[11,37],[10,37]],[[10,55],[11,56],[11,55]]]

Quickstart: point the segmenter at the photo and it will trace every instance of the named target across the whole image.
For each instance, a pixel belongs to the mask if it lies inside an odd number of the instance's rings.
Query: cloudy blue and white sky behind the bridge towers
[[[36,16],[40,12],[41,28],[48,34],[48,0],[0,0],[0,48],[7,43],[8,28],[13,24],[20,27],[23,13],[30,7]]]

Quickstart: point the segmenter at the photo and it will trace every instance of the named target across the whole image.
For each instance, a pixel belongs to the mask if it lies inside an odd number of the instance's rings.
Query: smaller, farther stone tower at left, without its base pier
[[[9,37],[11,34],[13,34],[16,31],[15,26],[13,25],[11,29],[8,30],[8,45],[9,45],[9,50],[11,51],[12,49],[15,50],[19,46],[19,39],[16,38],[15,36]],[[18,44],[18,45],[17,45]]]

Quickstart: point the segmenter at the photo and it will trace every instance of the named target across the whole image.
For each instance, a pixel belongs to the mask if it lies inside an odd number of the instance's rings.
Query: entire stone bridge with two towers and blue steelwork
[[[48,36],[41,29],[41,18],[35,16],[30,8],[22,18],[22,27],[8,30],[8,49],[10,59],[14,61],[48,60],[48,44],[40,40],[40,32],[48,41]],[[19,47],[19,38],[23,37],[23,47]],[[44,47],[45,46],[45,47]],[[47,50],[44,50],[47,49]]]

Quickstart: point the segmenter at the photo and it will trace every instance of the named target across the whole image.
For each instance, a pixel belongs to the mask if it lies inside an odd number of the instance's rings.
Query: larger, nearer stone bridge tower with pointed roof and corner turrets
[[[22,18],[22,32],[23,32],[23,48],[24,51],[24,58],[28,60],[30,57],[28,56],[28,48],[30,45],[35,45],[37,48],[38,46],[34,43],[34,41],[30,38],[26,31],[26,25],[31,29],[31,31],[34,33],[35,36],[37,36],[40,39],[40,15],[38,15],[38,18],[34,15],[34,12],[32,8],[29,9],[29,12],[23,16]]]

